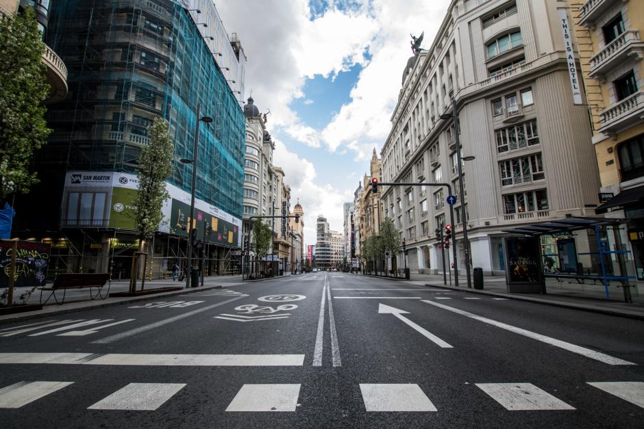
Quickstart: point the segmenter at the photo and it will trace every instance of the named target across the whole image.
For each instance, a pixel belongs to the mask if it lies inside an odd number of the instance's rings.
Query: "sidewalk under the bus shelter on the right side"
[[[443,275],[433,274],[411,274],[411,281],[422,281],[426,286],[441,287],[454,291],[462,291],[469,294],[482,294],[512,300],[536,302],[538,304],[554,305],[582,311],[593,311],[622,317],[630,317],[644,320],[644,296],[633,296],[633,302],[623,302],[623,291],[620,288],[618,293],[612,292],[612,300],[600,298],[597,294],[584,293],[582,291],[563,289],[556,281],[548,279],[546,282],[546,294],[510,294],[506,287],[504,276],[485,276],[483,289],[468,289],[467,277],[458,276],[459,287],[450,287],[443,284]],[[454,284],[454,278],[452,278]],[[571,285],[577,287],[578,285]],[[634,289],[634,288],[631,288]],[[635,291],[634,295],[635,294]],[[622,300],[621,302],[619,300]]]

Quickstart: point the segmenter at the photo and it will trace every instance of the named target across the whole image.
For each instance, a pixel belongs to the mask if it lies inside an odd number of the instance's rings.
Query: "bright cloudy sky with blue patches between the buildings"
[[[275,140],[304,241],[316,219],[343,231],[343,203],[369,174],[391,130],[410,34],[428,48],[449,0],[230,0],[216,2],[247,57],[245,88]]]

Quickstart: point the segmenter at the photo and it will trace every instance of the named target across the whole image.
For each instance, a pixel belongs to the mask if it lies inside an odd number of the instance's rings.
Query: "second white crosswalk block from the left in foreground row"
[[[129,383],[87,409],[154,411],[185,386],[182,383]]]

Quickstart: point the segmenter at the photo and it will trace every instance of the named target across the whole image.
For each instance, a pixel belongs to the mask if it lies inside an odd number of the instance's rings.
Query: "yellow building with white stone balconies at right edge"
[[[602,205],[626,219],[634,274],[644,280],[644,3],[569,1],[593,125]],[[628,235],[626,234],[628,233]]]

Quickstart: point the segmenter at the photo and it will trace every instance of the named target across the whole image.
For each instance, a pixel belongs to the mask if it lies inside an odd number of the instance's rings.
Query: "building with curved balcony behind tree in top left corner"
[[[14,14],[21,12],[23,8],[34,8],[36,21],[44,38],[49,26],[49,8],[52,3],[54,1],[0,0],[0,14]],[[46,42],[45,52],[42,53],[42,62],[47,66],[47,83],[51,87],[51,94],[44,103],[46,105],[57,103],[67,96],[67,68]]]

